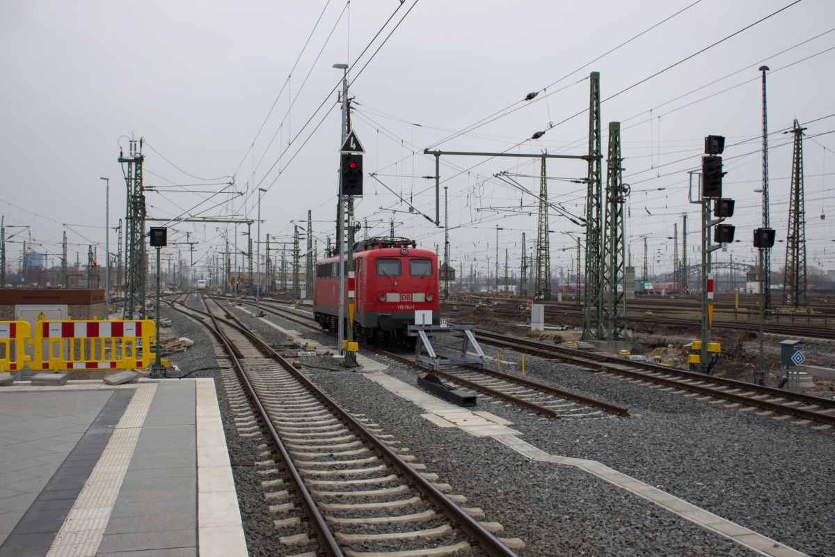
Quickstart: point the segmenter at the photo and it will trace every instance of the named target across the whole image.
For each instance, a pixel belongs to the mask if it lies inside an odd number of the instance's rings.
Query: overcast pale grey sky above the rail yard
[[[290,241],[293,222],[306,225],[311,210],[321,252],[333,235],[339,165],[342,70],[331,66],[349,63],[353,127],[367,151],[366,173],[380,180],[366,176],[357,217],[372,235],[387,234],[393,220],[398,234],[443,246],[443,229],[398,199],[434,217],[433,181],[423,179],[434,174],[434,160],[423,149],[584,154],[588,77],[599,71],[604,153],[608,123],[622,123],[631,263],[643,264],[646,236],[650,270],[670,270],[666,237],[675,223],[681,237],[684,213],[688,257],[698,257],[699,209],[688,203],[686,172],[700,166],[707,134],[727,138],[724,195],[737,200],[730,222],[740,240],[715,258],[753,263],[751,230],[762,216],[761,195],[752,191],[762,187],[757,68],[767,64],[772,227],[785,239],[792,138],[778,132],[798,119],[807,123],[807,260],[835,269],[835,3],[792,1],[355,0],[349,7],[337,0],[6,0],[0,214],[7,226],[30,226],[13,240],[31,234],[33,250],[54,254],[56,264],[64,231],[71,262],[77,252],[85,261],[90,243],[103,257],[99,177],[110,180],[115,226],[125,212],[119,149],[141,137],[144,183],[159,188],[147,195],[149,216],[255,218],[261,187],[268,190],[261,237]],[[533,91],[539,96],[524,102]],[[492,268],[499,225],[500,261],[508,248],[518,269],[522,233],[529,248],[535,241],[536,200],[493,175],[519,175],[536,192],[539,167],[508,158],[441,161],[453,264],[483,272],[489,257]],[[569,180],[585,173],[582,161],[549,162],[550,200],[583,214],[584,185]],[[568,268],[581,230],[554,213],[550,228],[552,263]],[[186,232],[199,242],[200,273],[223,250],[225,235],[235,241],[234,226],[180,224],[170,242],[185,242]],[[245,246],[245,237],[237,241]],[[112,252],[115,242],[113,234]],[[784,264],[783,246],[773,251],[774,269]],[[188,260],[187,247],[168,251]],[[21,248],[8,245],[13,268]]]

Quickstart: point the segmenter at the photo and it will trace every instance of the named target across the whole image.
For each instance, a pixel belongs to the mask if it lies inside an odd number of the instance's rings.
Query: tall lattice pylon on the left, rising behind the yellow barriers
[[[128,187],[128,206],[125,223],[124,252],[127,265],[124,277],[124,319],[134,319],[139,309],[139,318],[145,318],[145,195],[142,188],[142,144],[144,139],[130,140],[129,154],[124,156],[119,149],[119,162],[127,165],[124,183]],[[139,148],[137,149],[137,144]]]

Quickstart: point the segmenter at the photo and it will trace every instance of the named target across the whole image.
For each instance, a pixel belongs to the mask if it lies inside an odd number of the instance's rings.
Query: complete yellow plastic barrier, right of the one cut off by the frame
[[[143,369],[154,361],[151,339],[156,327],[139,321],[42,321],[29,342],[30,369]],[[141,353],[140,353],[141,352]]]

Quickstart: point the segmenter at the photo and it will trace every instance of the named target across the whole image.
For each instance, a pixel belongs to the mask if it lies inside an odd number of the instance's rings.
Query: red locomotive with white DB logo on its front
[[[415,311],[431,310],[438,324],[438,256],[406,238],[371,238],[354,244],[356,295],[354,338],[358,342],[402,342]],[[345,279],[348,300],[348,279]],[[339,256],[316,261],[313,315],[322,328],[339,323]],[[344,313],[347,323],[348,311]]]

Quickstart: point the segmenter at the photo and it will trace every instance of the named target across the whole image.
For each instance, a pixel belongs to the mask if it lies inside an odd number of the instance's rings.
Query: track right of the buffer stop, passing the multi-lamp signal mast
[[[649,362],[625,361],[619,357],[594,352],[579,352],[573,348],[512,338],[494,332],[478,330],[476,337],[480,343],[505,347],[545,359],[558,359],[580,367],[590,367],[633,382],[660,385],[668,391],[690,392],[705,401],[726,401],[727,405],[733,408],[758,408],[762,415],[778,414],[784,418],[796,418],[797,423],[812,425],[816,429],[835,428],[835,400],[828,398],[706,376]]]

